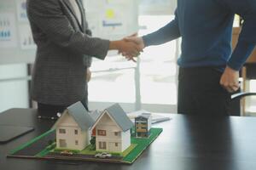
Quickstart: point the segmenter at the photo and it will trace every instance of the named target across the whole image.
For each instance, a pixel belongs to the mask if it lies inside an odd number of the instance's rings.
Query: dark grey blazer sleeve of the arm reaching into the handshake
[[[63,14],[59,1],[28,0],[27,14],[29,20],[58,46],[98,59],[106,57],[109,41],[74,31],[67,16]]]

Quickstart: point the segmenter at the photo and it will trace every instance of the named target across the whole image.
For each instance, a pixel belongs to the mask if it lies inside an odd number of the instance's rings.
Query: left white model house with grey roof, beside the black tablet
[[[90,127],[96,121],[81,102],[69,106],[55,122],[56,148],[84,150],[90,144]]]

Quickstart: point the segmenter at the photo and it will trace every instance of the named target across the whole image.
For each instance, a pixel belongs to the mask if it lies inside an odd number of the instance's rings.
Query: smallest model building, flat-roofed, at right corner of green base
[[[135,136],[137,138],[148,138],[150,135],[151,122],[151,114],[143,113],[135,117]]]

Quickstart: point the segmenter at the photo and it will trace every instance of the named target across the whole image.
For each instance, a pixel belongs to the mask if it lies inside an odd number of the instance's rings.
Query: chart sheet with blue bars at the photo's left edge
[[[17,47],[15,14],[0,13],[0,48]]]

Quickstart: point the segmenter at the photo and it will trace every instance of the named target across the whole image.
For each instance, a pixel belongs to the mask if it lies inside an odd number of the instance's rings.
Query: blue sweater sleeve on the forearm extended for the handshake
[[[172,20],[166,26],[160,28],[160,30],[154,31],[151,34],[143,36],[143,42],[145,47],[148,47],[150,45],[160,45],[162,43],[172,41],[180,36],[181,35],[178,27],[176,11],[174,20]]]

